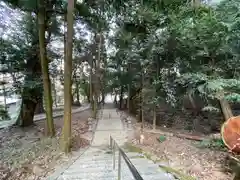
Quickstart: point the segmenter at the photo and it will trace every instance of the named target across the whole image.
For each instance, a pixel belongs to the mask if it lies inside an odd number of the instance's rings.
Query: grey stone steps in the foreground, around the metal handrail
[[[126,152],[144,180],[175,180],[161,170],[153,161],[139,153]],[[108,147],[91,147],[84,156],[66,169],[57,180],[116,180],[118,179],[118,151],[113,169],[113,154]],[[135,180],[123,158],[121,158],[121,180]]]

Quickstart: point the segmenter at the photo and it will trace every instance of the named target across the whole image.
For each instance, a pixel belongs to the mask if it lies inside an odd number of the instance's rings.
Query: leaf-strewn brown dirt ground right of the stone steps
[[[157,139],[162,134],[151,132],[151,126],[147,123],[143,132],[144,140],[140,144],[136,140],[139,138],[140,125],[141,123],[133,124],[134,133],[129,133],[129,143],[156,156],[160,164],[199,180],[233,179],[233,175],[223,168],[227,156],[226,151],[199,148],[196,146],[196,141],[175,136],[165,136],[166,139],[159,142]],[[173,131],[171,130],[171,133]]]

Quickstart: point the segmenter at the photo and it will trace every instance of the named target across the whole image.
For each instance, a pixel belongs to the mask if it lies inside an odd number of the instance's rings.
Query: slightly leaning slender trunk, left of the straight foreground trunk
[[[40,48],[40,59],[41,59],[41,69],[43,77],[43,89],[44,89],[44,98],[46,104],[46,118],[47,118],[47,129],[46,135],[54,136],[55,129],[52,117],[52,91],[51,91],[51,82],[48,72],[48,60],[45,46],[45,5],[44,0],[38,0],[38,32],[39,32],[39,48]]]

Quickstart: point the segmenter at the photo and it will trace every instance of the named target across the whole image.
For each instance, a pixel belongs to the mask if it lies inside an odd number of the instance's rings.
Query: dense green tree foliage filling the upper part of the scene
[[[25,13],[16,23],[19,32],[1,44],[1,62],[9,72],[20,72],[17,79],[25,77],[21,87],[40,87],[37,77],[26,78],[29,64],[25,61],[31,62],[30,55],[36,58],[33,52],[36,52],[38,36],[33,14],[37,11],[37,1],[5,2]],[[61,35],[61,22],[57,17],[66,12],[66,1],[46,2],[53,3],[55,13],[51,8],[47,13],[51,16],[52,33],[57,37]],[[145,104],[151,107],[160,101],[176,106],[184,94],[193,93],[207,100],[204,111],[217,111],[212,100],[224,97],[240,102],[239,13],[237,0],[224,0],[216,7],[193,6],[181,0],[104,3],[85,0],[76,3],[75,17],[77,24],[84,24],[89,31],[103,31],[110,36],[108,45],[113,52],[107,58],[104,56],[103,68],[107,92],[123,90],[126,94],[129,84],[133,93],[139,93],[142,88]],[[113,33],[109,33],[110,27]],[[96,44],[86,43],[81,30],[78,27],[75,30],[77,58],[73,68],[78,69],[83,61],[90,62]],[[49,49],[51,59],[57,58]],[[56,65],[51,72],[59,73]],[[88,94],[87,81],[80,82],[81,93]]]

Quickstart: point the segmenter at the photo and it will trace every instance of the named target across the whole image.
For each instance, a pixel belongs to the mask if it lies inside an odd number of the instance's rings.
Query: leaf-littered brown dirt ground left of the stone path
[[[72,115],[73,151],[90,144],[93,133],[88,131],[89,117],[89,110]],[[44,179],[71,157],[59,149],[63,118],[55,118],[54,123],[54,138],[44,136],[45,121],[36,121],[28,128],[0,130],[0,180]]]

